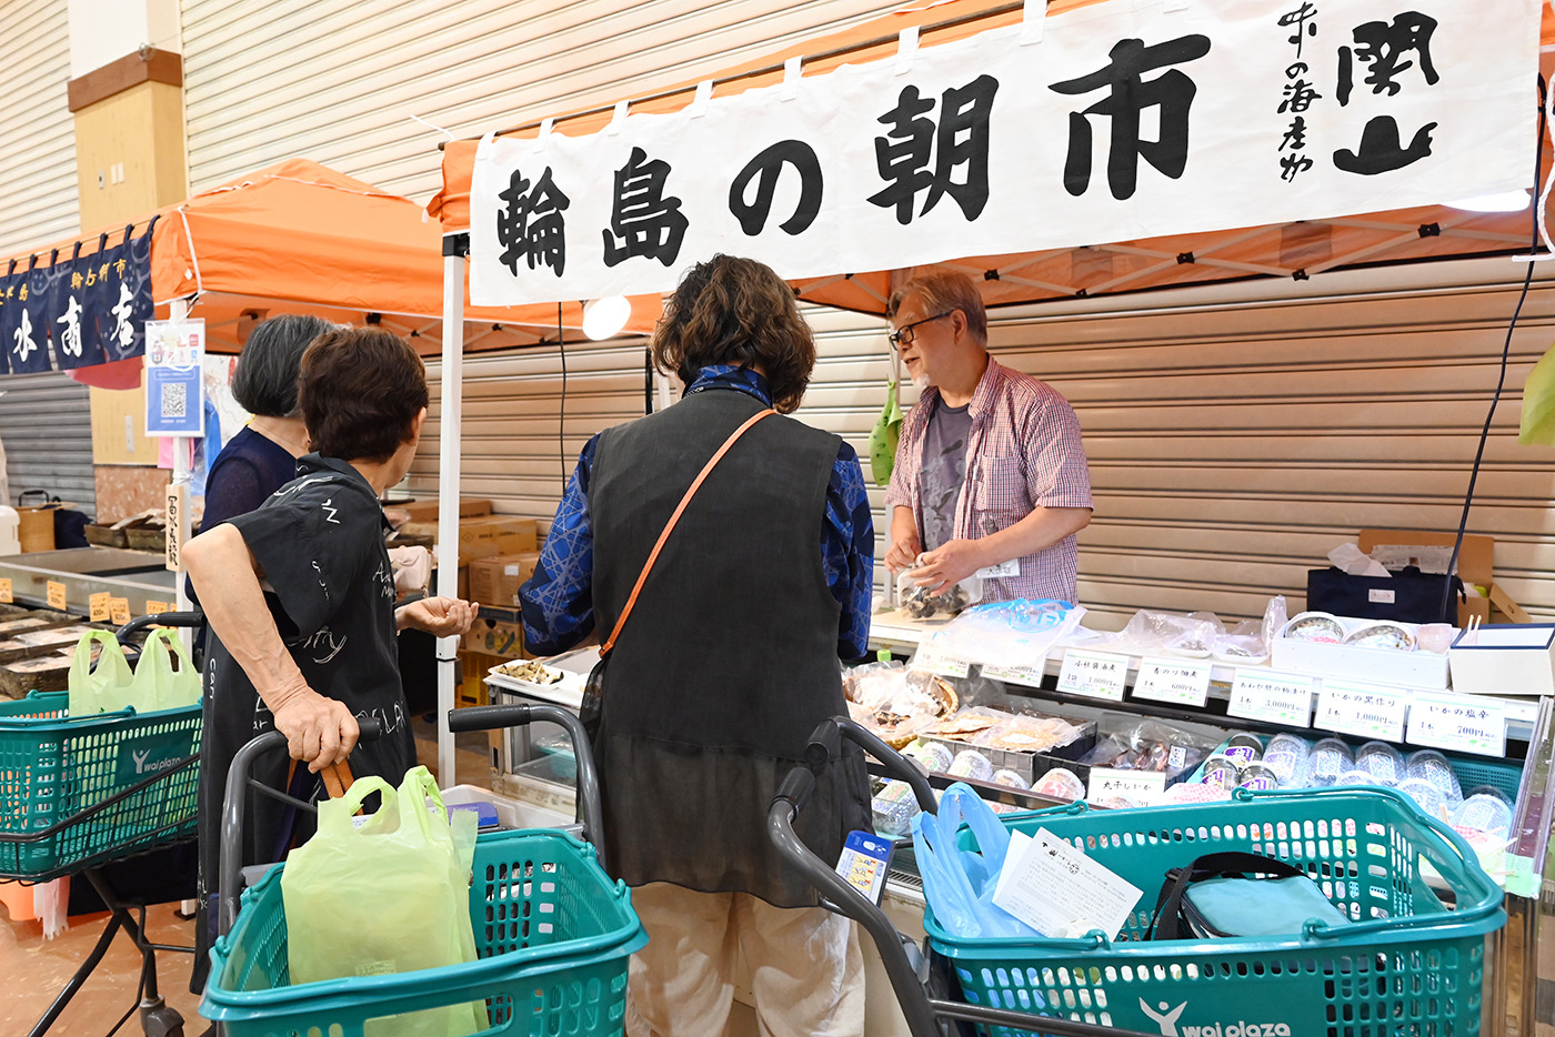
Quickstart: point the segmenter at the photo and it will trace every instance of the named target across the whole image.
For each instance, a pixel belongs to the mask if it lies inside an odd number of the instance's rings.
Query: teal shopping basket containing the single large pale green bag
[[[362,1037],[369,1020],[485,1001],[493,1037],[622,1032],[627,959],[648,937],[625,883],[594,847],[552,830],[476,840],[470,917],[479,959],[387,976],[291,986],[281,866],[243,894],[232,933],[211,950],[201,1014],[230,1037]]]

